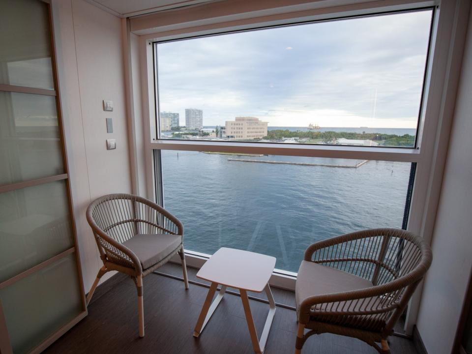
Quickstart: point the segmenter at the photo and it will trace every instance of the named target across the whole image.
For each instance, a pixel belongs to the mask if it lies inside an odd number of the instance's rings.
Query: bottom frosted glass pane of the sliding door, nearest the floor
[[[28,353],[82,311],[72,253],[0,290],[13,353]]]

